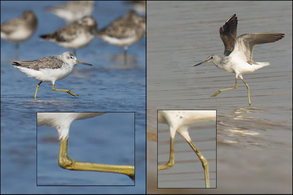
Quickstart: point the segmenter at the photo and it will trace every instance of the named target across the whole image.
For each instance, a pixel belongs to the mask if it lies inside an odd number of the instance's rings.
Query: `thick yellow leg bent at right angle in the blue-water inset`
[[[68,138],[60,139],[59,166],[64,169],[79,171],[101,171],[120,173],[129,176],[134,181],[134,166],[132,165],[107,165],[100,163],[76,162],[67,155]]]

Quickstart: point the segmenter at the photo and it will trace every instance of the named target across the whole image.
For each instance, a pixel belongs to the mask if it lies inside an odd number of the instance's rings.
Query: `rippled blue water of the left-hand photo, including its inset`
[[[1,1],[1,23],[19,17],[28,9],[33,10],[38,18],[35,34],[20,44],[19,60],[71,51],[51,42],[41,42],[38,38],[38,35],[54,32],[66,24],[61,18],[42,11],[45,6],[63,2]],[[103,28],[129,9],[122,1],[98,1],[93,17],[98,28]],[[79,96],[53,91],[51,83],[43,82],[35,100],[33,96],[38,81],[13,68],[15,46],[1,40],[1,194],[145,193],[145,48],[145,39],[129,47],[129,64],[124,66],[121,48],[95,38],[76,54],[78,60],[93,66],[79,64],[71,75],[55,83],[56,89],[70,89]],[[120,174],[60,168],[57,164],[57,131],[39,127],[37,136],[37,112],[135,112],[135,186],[37,186],[133,185],[130,179]],[[107,119],[111,114],[107,115],[72,124],[69,155],[83,162],[133,165],[133,143],[127,141],[133,136],[133,128],[124,131],[122,125],[118,125],[116,130],[108,129],[105,124],[111,120]],[[99,122],[101,119],[105,128]],[[117,121],[125,122],[126,119],[117,117]],[[115,123],[111,122],[109,126]]]

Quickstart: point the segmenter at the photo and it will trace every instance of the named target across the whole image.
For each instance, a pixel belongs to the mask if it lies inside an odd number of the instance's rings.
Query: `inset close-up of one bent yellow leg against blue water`
[[[134,112],[42,112],[37,126],[38,186],[134,185]]]

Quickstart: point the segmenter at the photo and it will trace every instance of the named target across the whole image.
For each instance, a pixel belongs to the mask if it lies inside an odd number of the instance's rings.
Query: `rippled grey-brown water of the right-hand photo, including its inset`
[[[234,87],[235,74],[212,63],[193,67],[211,54],[223,54],[219,28],[234,13],[238,36],[285,34],[254,48],[253,60],[271,65],[243,75],[252,106],[241,79],[237,89],[210,96]],[[174,167],[157,175],[157,163],[168,160],[169,140],[168,126],[160,124],[158,159],[158,109],[217,109],[217,150],[201,135],[205,123],[190,128],[203,154],[217,154],[207,157],[211,187],[217,189],[157,189],[204,187],[200,162],[180,135],[175,137]],[[147,131],[149,194],[292,194],[292,1],[148,1]]]

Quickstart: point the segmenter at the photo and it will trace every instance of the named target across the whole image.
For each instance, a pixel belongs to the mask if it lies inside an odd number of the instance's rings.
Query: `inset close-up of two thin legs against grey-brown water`
[[[216,188],[216,115],[158,110],[158,188]]]

